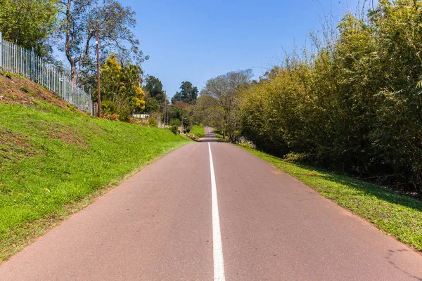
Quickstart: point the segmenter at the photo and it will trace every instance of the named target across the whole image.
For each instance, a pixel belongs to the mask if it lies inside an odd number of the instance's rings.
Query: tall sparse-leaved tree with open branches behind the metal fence
[[[136,25],[134,11],[117,0],[62,0],[63,24],[60,33],[65,34],[60,51],[64,51],[70,63],[72,83],[77,81],[77,64],[87,59],[96,32],[99,34],[101,50],[115,51],[122,58],[131,58],[141,63],[143,57],[139,41],[134,38],[132,28]]]

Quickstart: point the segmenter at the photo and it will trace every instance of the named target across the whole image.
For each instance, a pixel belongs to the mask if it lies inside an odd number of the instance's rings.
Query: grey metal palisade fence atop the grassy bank
[[[93,114],[91,95],[84,89],[71,83],[69,75],[57,70],[33,51],[22,48],[1,38],[0,32],[0,68],[21,74],[46,87],[80,110]]]

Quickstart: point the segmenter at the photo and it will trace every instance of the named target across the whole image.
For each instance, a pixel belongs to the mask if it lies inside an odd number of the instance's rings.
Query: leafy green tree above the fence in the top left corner
[[[0,0],[3,38],[41,57],[51,53],[49,39],[58,27],[58,0]]]

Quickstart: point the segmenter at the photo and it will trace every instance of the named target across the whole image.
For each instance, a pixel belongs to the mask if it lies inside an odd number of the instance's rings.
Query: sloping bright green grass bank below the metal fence
[[[168,129],[37,101],[0,103],[0,262],[154,159],[188,143]]]

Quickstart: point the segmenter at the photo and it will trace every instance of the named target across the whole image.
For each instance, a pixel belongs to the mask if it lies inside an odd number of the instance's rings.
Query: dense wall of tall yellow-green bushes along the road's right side
[[[276,155],[421,193],[421,50],[420,1],[382,0],[366,19],[346,15],[337,39],[248,86],[243,136]]]

